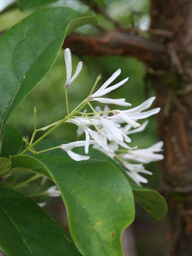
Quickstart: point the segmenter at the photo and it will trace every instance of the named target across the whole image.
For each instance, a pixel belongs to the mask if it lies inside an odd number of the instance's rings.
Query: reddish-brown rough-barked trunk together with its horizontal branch
[[[97,36],[71,34],[64,42],[73,53],[135,56],[143,61],[157,91],[159,138],[165,160],[161,187],[169,212],[170,256],[192,255],[192,1],[151,0],[146,39],[118,25]]]

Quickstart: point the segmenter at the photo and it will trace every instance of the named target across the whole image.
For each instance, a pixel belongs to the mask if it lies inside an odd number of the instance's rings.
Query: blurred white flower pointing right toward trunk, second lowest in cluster
[[[129,153],[121,154],[121,157],[123,159],[131,159],[140,163],[148,164],[150,162],[164,159],[163,155],[155,154],[156,152],[162,151],[163,145],[163,142],[159,141],[158,143],[152,145],[149,148],[129,150]]]

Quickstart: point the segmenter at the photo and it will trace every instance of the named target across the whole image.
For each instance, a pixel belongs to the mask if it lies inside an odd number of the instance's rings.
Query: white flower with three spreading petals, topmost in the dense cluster
[[[122,84],[127,82],[127,80],[129,78],[126,78],[126,79],[122,80],[121,82],[119,82],[117,84],[114,84],[114,86],[111,86],[111,87],[107,88],[109,86],[109,84],[111,82],[113,82],[114,79],[116,79],[120,73],[121,73],[120,69],[118,69],[116,72],[114,72],[112,74],[112,76],[105,83],[103,83],[103,85],[100,87],[100,89],[98,91],[91,94],[90,100],[96,100],[96,101],[99,101],[99,102],[102,102],[102,103],[115,104],[115,105],[119,105],[119,106],[131,106],[130,103],[124,102],[126,99],[100,98],[101,96],[109,93],[110,91],[113,91],[113,90],[117,89],[118,87],[122,86]]]

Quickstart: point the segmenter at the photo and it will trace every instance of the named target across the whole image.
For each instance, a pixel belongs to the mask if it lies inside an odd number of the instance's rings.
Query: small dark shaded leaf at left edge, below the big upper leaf
[[[9,157],[18,154],[21,148],[22,136],[14,127],[10,125],[5,126],[3,140],[2,140],[2,157]]]

